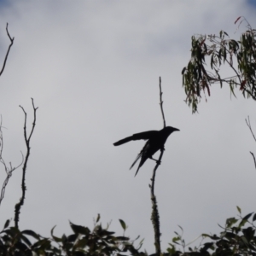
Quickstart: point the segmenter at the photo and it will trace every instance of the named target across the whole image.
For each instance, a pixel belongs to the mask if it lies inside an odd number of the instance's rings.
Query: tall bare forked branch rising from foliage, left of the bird
[[[19,218],[20,218],[20,207],[23,206],[24,201],[25,201],[25,194],[26,194],[26,184],[25,184],[25,176],[26,176],[26,166],[28,162],[28,157],[30,155],[30,139],[32,137],[32,133],[34,131],[35,125],[36,125],[36,112],[38,108],[35,108],[34,106],[34,100],[32,99],[32,107],[33,107],[33,112],[34,112],[34,119],[32,122],[32,130],[30,132],[29,137],[27,138],[26,134],[26,111],[24,110],[23,107],[20,106],[20,108],[23,110],[25,114],[25,122],[24,122],[24,137],[25,137],[25,143],[26,143],[26,157],[24,161],[24,165],[22,168],[22,182],[21,182],[21,189],[22,189],[22,196],[20,198],[20,201],[15,205],[15,227],[18,228],[18,223],[19,223]]]

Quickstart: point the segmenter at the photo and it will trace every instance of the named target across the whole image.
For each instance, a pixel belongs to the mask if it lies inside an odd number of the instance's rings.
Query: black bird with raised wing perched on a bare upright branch
[[[165,143],[167,138],[170,136],[170,134],[173,131],[179,131],[177,128],[166,126],[160,131],[143,131],[140,133],[133,134],[130,137],[125,137],[122,140],[119,140],[117,143],[113,143],[114,146],[119,146],[124,143],[129,143],[131,141],[137,141],[137,140],[148,140],[147,143],[144,145],[142,151],[137,155],[136,160],[131,165],[130,169],[137,163],[137,160],[141,158],[140,164],[137,167],[137,172],[139,171],[140,167],[143,166],[144,162],[149,158],[152,160],[155,160],[152,156],[155,152],[157,152],[159,149],[164,150],[165,149]],[[158,160],[155,160],[158,162]],[[137,175],[137,172],[135,173],[135,176]]]

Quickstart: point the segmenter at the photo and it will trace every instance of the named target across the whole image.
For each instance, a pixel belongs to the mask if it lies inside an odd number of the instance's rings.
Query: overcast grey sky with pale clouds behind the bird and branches
[[[251,2],[251,3],[249,3]],[[253,212],[256,153],[245,119],[256,131],[255,102],[215,84],[192,115],[183,101],[181,71],[189,61],[190,38],[224,30],[237,38],[234,21],[244,15],[255,27],[253,1],[0,1],[0,59],[15,37],[0,78],[3,158],[17,166],[23,138],[23,106],[32,124],[38,107],[26,172],[26,201],[20,229],[44,236],[70,234],[68,220],[105,226],[145,238],[154,252],[148,183],[154,161],[134,177],[132,161],[143,141],[113,147],[123,137],[160,130],[159,77],[166,124],[180,129],[169,137],[155,183],[165,250],[177,225],[192,241],[220,232],[218,224]],[[236,32],[236,34],[235,34]],[[158,154],[156,154],[158,157]],[[3,168],[0,178],[5,177]],[[1,205],[1,223],[14,217],[21,169],[14,172]],[[2,185],[1,185],[2,186]]]

